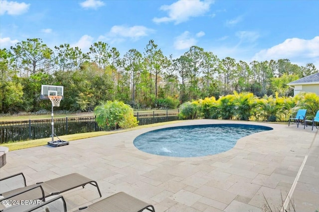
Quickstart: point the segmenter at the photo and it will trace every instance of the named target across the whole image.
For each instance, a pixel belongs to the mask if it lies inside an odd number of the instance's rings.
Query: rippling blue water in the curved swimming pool
[[[214,155],[233,148],[239,138],[271,130],[249,124],[203,124],[168,127],[137,136],[134,145],[141,151],[173,157]]]

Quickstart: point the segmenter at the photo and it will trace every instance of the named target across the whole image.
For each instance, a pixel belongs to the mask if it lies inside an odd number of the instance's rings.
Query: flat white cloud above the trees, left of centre
[[[150,33],[153,33],[154,30],[147,28],[145,26],[113,26],[108,33],[108,37],[116,37],[119,39],[119,37],[127,37],[132,38],[133,40],[138,40],[141,37],[148,36]]]

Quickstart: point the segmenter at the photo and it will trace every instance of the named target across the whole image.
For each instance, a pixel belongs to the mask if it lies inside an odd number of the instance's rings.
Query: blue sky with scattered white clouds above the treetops
[[[0,0],[0,48],[27,38],[83,52],[103,41],[121,56],[153,39],[173,58],[197,45],[220,59],[319,68],[319,0]]]

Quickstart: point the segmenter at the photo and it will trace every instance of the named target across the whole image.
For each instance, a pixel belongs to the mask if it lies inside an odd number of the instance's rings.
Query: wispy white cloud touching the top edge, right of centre
[[[160,6],[160,10],[167,11],[168,16],[155,17],[156,23],[174,21],[175,24],[187,21],[190,17],[197,17],[209,11],[212,0],[178,0],[170,5]]]

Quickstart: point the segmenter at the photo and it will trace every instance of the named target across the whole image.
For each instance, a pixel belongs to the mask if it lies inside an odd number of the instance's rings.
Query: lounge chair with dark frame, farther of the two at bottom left
[[[18,173],[15,175],[11,175],[11,176],[2,178],[2,179],[0,179],[0,182],[2,181],[2,183],[3,183],[3,181],[5,181],[5,180],[9,181],[10,178],[17,177],[20,175],[23,177],[24,187],[18,188],[18,189],[13,189],[11,191],[7,191],[7,192],[0,194],[3,196],[3,198],[6,198],[8,196],[14,195],[14,194],[19,193],[21,191],[24,191],[25,189],[27,189],[29,187],[30,188],[34,187],[34,185],[26,186],[25,177],[24,177],[23,173]],[[100,197],[102,197],[101,192],[100,192],[100,188],[99,188],[97,182],[93,181],[87,177],[84,177],[78,173],[72,173],[69,175],[55,178],[53,180],[39,182],[39,183],[36,183],[35,185],[41,185],[41,187],[44,191],[44,197],[50,197],[52,195],[58,195],[58,194],[61,194],[63,192],[66,192],[66,191],[69,191],[69,190],[72,190],[72,189],[75,189],[75,188],[78,188],[81,186],[84,188],[84,186],[87,184],[91,184],[91,185],[95,186],[99,192]],[[29,194],[29,193],[25,193],[25,195],[26,195],[25,198],[21,197],[20,200],[39,199],[38,196],[31,196],[31,194]]]

